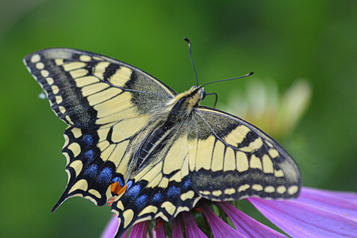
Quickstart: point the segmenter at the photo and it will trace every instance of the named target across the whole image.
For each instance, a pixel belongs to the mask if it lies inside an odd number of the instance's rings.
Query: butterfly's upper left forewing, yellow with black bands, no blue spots
[[[145,114],[176,95],[146,72],[91,52],[51,48],[26,56],[24,62],[52,110],[78,128]]]

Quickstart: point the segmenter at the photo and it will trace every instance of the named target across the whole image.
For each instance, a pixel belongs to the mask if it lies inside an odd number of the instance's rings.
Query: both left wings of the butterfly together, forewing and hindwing
[[[102,206],[112,183],[124,186],[131,137],[145,126],[152,108],[177,93],[134,66],[91,52],[45,49],[24,62],[52,110],[69,125],[62,150],[69,181],[52,211],[73,196]]]

